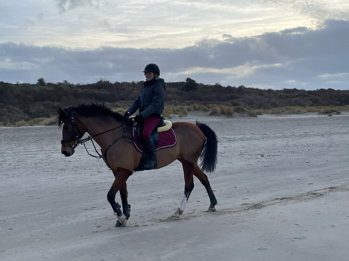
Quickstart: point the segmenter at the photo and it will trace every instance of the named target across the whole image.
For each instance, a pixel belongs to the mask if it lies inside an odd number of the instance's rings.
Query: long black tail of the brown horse
[[[216,133],[207,125],[196,121],[196,125],[205,134],[206,141],[203,144],[200,155],[202,171],[213,172],[217,164],[217,136]]]

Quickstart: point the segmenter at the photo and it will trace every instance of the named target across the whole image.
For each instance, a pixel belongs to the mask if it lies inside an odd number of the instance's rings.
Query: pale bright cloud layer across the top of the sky
[[[229,41],[290,28],[315,29],[326,18],[348,20],[349,12],[347,1],[17,2],[0,1],[0,42],[86,49],[183,48],[200,39]],[[23,33],[18,26],[25,20],[36,26]]]

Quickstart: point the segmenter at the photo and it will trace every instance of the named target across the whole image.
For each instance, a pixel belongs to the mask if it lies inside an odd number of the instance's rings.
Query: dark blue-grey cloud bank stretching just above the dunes
[[[205,38],[184,48],[93,50],[25,43],[0,44],[0,79],[36,82],[143,80],[141,71],[157,63],[166,81],[190,77],[204,84],[268,88],[349,86],[348,21],[327,20],[315,29],[295,27],[250,37]]]

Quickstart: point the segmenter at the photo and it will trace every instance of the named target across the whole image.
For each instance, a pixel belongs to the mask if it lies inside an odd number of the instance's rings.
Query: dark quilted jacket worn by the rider
[[[164,112],[166,83],[164,79],[157,78],[153,81],[145,81],[138,96],[127,110],[131,114],[139,109],[139,114],[147,118],[154,114]]]

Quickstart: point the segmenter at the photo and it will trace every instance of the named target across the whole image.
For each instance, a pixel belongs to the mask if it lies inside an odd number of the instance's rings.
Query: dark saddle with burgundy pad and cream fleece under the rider
[[[133,145],[138,149],[140,152],[142,152],[142,157],[140,160],[140,163],[138,167],[134,169],[134,172],[136,171],[143,171],[144,164],[146,163],[146,155],[143,149],[143,139],[142,139],[142,130],[143,126],[141,124],[137,124],[133,127],[133,139],[134,143]],[[176,134],[174,134],[174,131],[172,129],[172,123],[169,120],[163,120],[163,117],[161,116],[161,120],[154,128],[153,132],[150,135],[150,138],[153,139],[155,150],[163,149],[163,148],[169,148],[177,143],[177,137]]]

